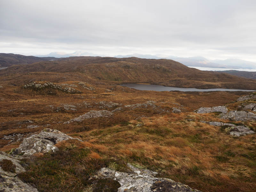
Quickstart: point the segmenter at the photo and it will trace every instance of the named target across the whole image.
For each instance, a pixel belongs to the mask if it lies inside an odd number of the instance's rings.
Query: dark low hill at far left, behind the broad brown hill
[[[35,57],[13,53],[0,53],[0,67],[9,67],[17,64],[30,64],[39,61],[57,60],[55,57]]]

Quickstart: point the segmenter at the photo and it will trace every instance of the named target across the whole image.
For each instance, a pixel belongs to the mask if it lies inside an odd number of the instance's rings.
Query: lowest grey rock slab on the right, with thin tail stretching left
[[[201,121],[201,122],[202,123],[208,123],[208,124],[213,125],[213,126],[228,126],[228,127],[231,127],[230,129],[228,129],[228,131],[230,131],[229,134],[233,135],[233,136],[236,136],[236,137],[255,133],[254,131],[250,130],[247,126],[244,126],[244,125],[237,126],[235,124],[222,123],[222,122],[216,122],[216,121],[210,121],[210,122]]]

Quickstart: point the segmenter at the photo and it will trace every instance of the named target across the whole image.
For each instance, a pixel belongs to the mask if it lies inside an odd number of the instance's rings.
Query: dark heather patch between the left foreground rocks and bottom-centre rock
[[[75,142],[75,143],[73,143]],[[68,141],[55,153],[40,157],[23,159],[28,164],[27,172],[18,174],[24,182],[35,185],[40,192],[82,192],[90,186],[89,180],[100,168],[111,167],[118,171],[129,171],[121,159],[94,159],[88,157],[91,152],[87,148],[77,146],[76,141]],[[120,184],[116,181],[99,180],[93,191],[117,191]]]

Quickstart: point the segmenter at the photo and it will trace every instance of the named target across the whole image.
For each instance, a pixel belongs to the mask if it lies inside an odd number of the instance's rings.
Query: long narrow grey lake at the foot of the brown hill
[[[121,84],[124,87],[130,87],[142,91],[255,91],[245,89],[196,89],[196,88],[180,88],[180,87],[167,87],[162,85],[151,85],[151,84],[137,84],[137,83],[124,83]]]

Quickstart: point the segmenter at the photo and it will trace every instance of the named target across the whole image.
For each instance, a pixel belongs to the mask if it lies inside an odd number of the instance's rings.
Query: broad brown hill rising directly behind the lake
[[[0,76],[31,72],[72,73],[109,84],[150,83],[174,87],[256,90],[256,80],[213,71],[200,71],[167,59],[69,57],[54,61],[15,65]],[[72,78],[67,79],[69,81]]]

